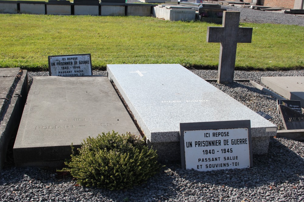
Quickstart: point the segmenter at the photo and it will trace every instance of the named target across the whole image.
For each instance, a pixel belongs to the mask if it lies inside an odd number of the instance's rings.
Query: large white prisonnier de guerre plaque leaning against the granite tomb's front
[[[211,171],[253,165],[250,120],[180,124],[181,166]]]

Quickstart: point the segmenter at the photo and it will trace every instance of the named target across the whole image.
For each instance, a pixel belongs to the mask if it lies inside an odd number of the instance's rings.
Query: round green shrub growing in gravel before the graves
[[[63,171],[71,172],[86,187],[132,188],[146,182],[161,168],[156,152],[130,133],[118,135],[112,131],[88,137],[77,152],[72,145],[72,152]]]

